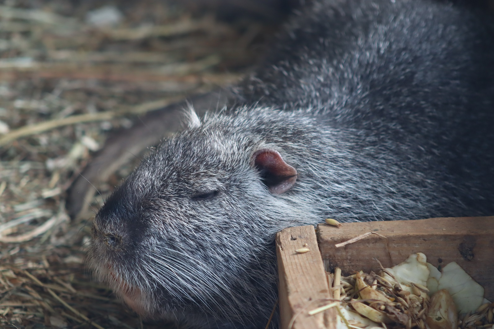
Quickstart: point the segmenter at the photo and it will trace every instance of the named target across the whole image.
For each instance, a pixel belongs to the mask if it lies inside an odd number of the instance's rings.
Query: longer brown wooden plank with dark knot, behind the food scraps
[[[336,248],[335,244],[368,232],[355,243]],[[389,267],[417,252],[440,268],[456,261],[482,285],[485,297],[494,300],[494,217],[433,218],[343,223],[337,228],[318,227],[318,241],[327,270],[341,267],[343,272],[378,268],[376,257]]]

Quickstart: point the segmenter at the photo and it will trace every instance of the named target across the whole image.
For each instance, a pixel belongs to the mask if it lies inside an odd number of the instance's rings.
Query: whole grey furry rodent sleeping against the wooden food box
[[[96,216],[90,264],[141,314],[263,328],[284,227],[494,215],[494,28],[480,15],[314,1],[234,92]]]

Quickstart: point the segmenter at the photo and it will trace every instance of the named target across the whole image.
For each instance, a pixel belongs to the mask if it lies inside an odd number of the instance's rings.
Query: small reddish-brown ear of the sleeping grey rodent
[[[252,155],[252,160],[271,193],[281,194],[295,184],[297,171],[277,151],[260,149]]]

